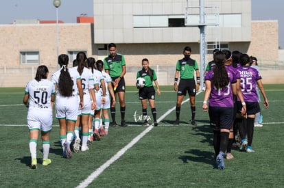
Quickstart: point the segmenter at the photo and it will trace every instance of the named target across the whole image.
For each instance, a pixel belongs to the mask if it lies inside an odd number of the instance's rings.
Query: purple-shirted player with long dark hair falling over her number
[[[224,152],[228,145],[228,135],[233,122],[233,94],[237,94],[241,99],[243,105],[241,113],[246,111],[246,103],[239,94],[240,92],[237,92],[235,73],[225,68],[225,60],[226,55],[222,51],[214,54],[216,66],[205,76],[206,90],[203,102],[203,111],[209,110],[210,123],[213,126],[213,146],[218,169],[225,168]]]

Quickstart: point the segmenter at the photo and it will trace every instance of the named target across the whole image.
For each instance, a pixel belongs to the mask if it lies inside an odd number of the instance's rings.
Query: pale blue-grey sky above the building
[[[186,0],[185,0],[186,1]],[[278,20],[279,46],[284,49],[284,1],[251,0],[252,20]],[[206,4],[206,0],[204,0]],[[93,16],[93,0],[61,0],[58,19],[76,23],[77,16]],[[13,23],[15,19],[56,20],[53,0],[1,0],[0,24]]]

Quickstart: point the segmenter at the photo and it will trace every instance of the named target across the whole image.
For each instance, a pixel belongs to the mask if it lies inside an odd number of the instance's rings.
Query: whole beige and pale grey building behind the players
[[[94,24],[58,24],[59,54],[68,54],[70,62],[78,51],[85,51],[88,57],[103,59],[108,55],[107,44],[115,42],[118,52],[126,57],[127,85],[134,85],[144,57],[150,59],[160,85],[171,85],[176,61],[182,57],[184,46],[191,46],[191,57],[200,62],[200,31],[196,27],[198,13],[193,10],[198,2],[123,0],[118,3],[96,0]],[[279,70],[277,63],[278,22],[251,21],[250,1],[247,0],[204,0],[204,3],[214,5],[206,17],[209,24],[206,26],[207,44],[212,44],[211,48],[255,55],[261,65],[263,83],[284,83],[280,77],[283,69]],[[192,10],[188,10],[185,19],[187,6]],[[214,15],[217,15],[218,27],[213,24],[216,19],[209,20]],[[58,68],[56,24],[38,21],[0,25],[0,41],[0,87],[24,87],[34,78],[38,65],[48,66],[50,75]],[[211,53],[206,57],[209,61]]]

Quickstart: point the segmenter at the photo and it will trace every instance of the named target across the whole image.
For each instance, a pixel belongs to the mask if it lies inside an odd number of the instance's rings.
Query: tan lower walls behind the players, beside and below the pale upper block
[[[261,32],[259,31],[261,29]],[[278,22],[253,21],[251,42],[230,42],[230,50],[255,55],[261,64],[263,83],[284,83],[283,66],[278,66]],[[21,51],[39,51],[40,65],[49,68],[50,75],[56,71],[56,25],[0,25],[0,87],[24,87],[34,77],[38,65],[23,65],[20,62]],[[144,44],[117,44],[117,51],[126,57],[126,84],[134,85],[137,70],[141,68],[141,59],[147,57],[150,66],[156,71],[161,85],[171,85],[178,59],[182,58],[182,49],[189,45],[193,59],[200,62],[198,42],[168,42]],[[59,24],[59,53],[68,51],[87,51],[88,57],[103,59],[108,51],[101,53],[93,44],[91,24]],[[208,60],[212,55],[208,55]],[[265,65],[270,65],[265,67]],[[263,68],[262,68],[263,67]]]

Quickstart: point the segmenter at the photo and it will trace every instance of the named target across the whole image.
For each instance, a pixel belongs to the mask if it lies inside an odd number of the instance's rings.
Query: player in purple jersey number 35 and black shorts
[[[252,150],[252,137],[255,126],[255,114],[260,112],[259,101],[257,96],[257,85],[263,95],[263,105],[265,108],[269,107],[268,98],[265,94],[263,84],[261,82],[261,75],[257,69],[250,66],[250,57],[247,54],[242,54],[240,57],[241,66],[237,69],[241,78],[241,92],[244,95],[246,102],[247,116],[241,117],[237,113],[237,118],[243,118],[242,124],[239,124],[239,134],[241,136],[241,147],[239,150],[246,152],[255,152]],[[237,98],[237,107],[240,108],[241,103]],[[248,136],[248,139],[246,139]]]

